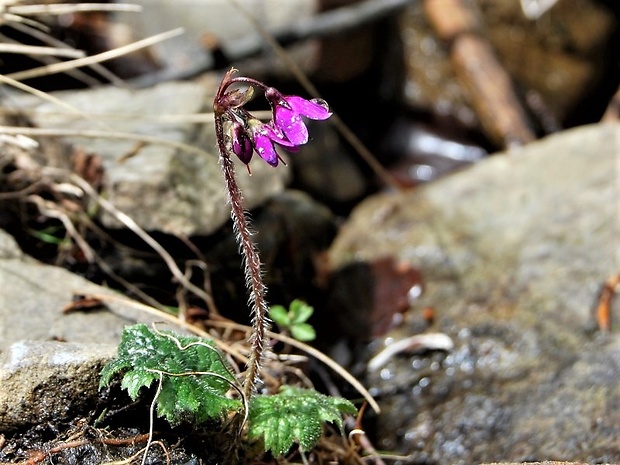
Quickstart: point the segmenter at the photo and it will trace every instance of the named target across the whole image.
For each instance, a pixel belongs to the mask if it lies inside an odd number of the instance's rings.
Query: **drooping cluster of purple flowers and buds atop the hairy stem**
[[[283,95],[273,87],[247,77],[233,77],[231,69],[222,80],[215,96],[213,109],[216,118],[223,118],[227,124],[229,148],[243,163],[248,165],[254,152],[271,166],[281,161],[276,145],[288,151],[296,151],[308,142],[308,128],[302,117],[325,120],[331,116],[327,103],[322,99],[306,100],[295,95]],[[232,89],[232,84],[248,85],[245,91]],[[254,95],[256,86],[265,94],[271,105],[272,119],[263,123],[243,106]]]

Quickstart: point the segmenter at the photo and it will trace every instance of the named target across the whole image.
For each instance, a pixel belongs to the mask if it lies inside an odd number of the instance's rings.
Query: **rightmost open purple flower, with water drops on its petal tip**
[[[308,128],[302,116],[324,120],[331,116],[327,102],[322,99],[306,100],[296,95],[285,96],[273,87],[265,90],[265,97],[273,109],[273,124],[294,146],[308,142]]]

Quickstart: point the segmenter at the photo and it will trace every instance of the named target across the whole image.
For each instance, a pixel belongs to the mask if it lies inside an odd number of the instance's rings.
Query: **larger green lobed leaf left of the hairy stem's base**
[[[190,374],[193,372],[206,374]],[[239,400],[226,395],[235,382],[231,367],[208,339],[171,331],[158,334],[143,324],[128,326],[118,357],[101,372],[100,388],[117,373],[124,374],[121,387],[134,400],[143,387],[159,382],[161,376],[157,413],[172,425],[184,420],[200,424],[222,419],[229,411],[241,409]]]

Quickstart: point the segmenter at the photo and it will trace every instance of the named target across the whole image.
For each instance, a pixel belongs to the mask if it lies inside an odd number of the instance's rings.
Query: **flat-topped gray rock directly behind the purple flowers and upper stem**
[[[30,110],[34,124],[42,128],[110,135],[66,140],[76,149],[101,157],[105,170],[103,195],[142,228],[177,235],[207,235],[228,220],[230,211],[218,158],[213,155],[213,122],[209,122],[208,115],[206,123],[199,125],[179,122],[175,116],[182,119],[212,111],[217,85],[217,77],[208,75],[198,81],[167,82],[139,90],[106,86],[51,94],[81,114],[60,111],[57,105],[31,96],[15,96],[14,104]],[[190,152],[155,143],[137,146],[135,140],[114,137],[111,133],[115,131],[158,137],[198,150]],[[125,159],[128,154],[132,155]],[[281,192],[290,176],[286,168],[273,169],[260,160],[252,163],[251,177],[243,165],[237,171],[248,209]],[[104,213],[102,219],[109,227],[121,226],[111,215]]]

